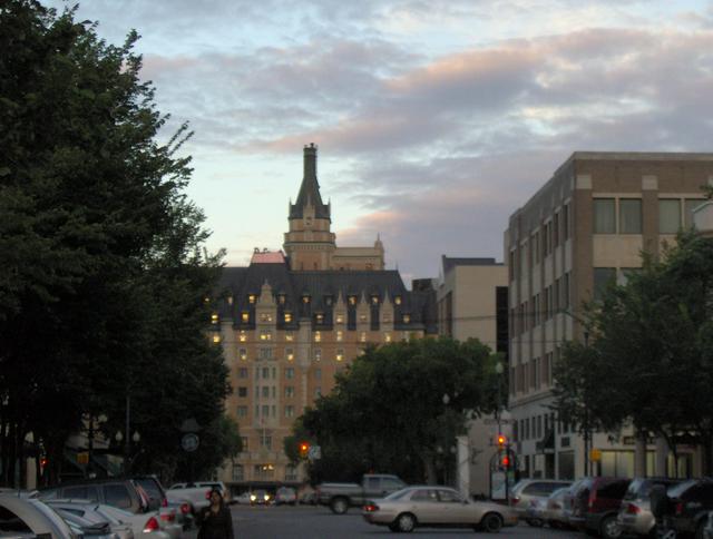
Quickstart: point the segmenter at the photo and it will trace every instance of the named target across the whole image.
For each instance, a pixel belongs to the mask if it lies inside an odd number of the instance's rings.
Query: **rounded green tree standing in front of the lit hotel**
[[[450,448],[466,421],[497,406],[498,360],[475,340],[367,349],[295,431],[293,441],[307,435],[322,449],[311,480],[355,480],[368,471],[410,482],[442,480],[455,465]]]

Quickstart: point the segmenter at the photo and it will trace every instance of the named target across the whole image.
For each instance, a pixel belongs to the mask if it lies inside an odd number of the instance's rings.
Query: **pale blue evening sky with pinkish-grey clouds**
[[[86,19],[141,36],[228,265],[282,248],[310,143],[338,245],[380,235],[407,283],[441,255],[502,261],[573,151],[713,146],[713,0],[84,0]]]

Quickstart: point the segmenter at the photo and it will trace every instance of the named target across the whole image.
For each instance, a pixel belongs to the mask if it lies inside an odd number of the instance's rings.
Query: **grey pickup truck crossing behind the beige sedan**
[[[333,513],[344,514],[350,507],[361,507],[368,499],[383,498],[406,483],[395,476],[365,474],[361,484],[322,483],[316,487],[316,499],[321,506],[328,506]]]

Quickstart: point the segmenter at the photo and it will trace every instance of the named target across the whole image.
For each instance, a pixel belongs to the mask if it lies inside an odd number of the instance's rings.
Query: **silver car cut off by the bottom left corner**
[[[27,533],[76,539],[67,522],[40,500],[0,494],[0,536]]]

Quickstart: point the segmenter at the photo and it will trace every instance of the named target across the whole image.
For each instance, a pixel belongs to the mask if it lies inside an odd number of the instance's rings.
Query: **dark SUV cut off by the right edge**
[[[707,513],[713,509],[713,480],[691,479],[671,487],[667,523],[677,532],[703,537]]]

